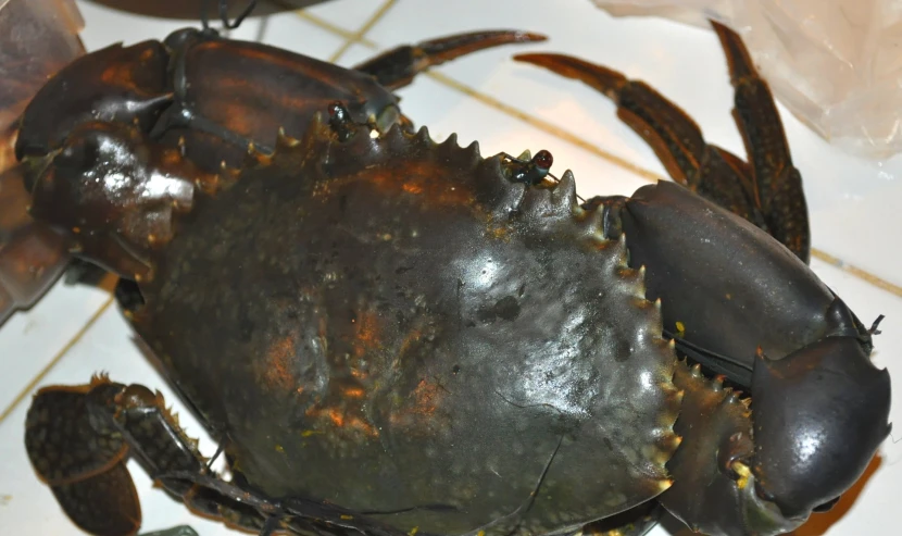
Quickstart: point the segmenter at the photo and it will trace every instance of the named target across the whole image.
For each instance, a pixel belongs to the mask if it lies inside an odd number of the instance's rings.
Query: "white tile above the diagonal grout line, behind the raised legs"
[[[416,24],[412,24],[413,22]],[[712,32],[655,18],[615,18],[591,2],[541,0],[417,2],[399,0],[366,37],[387,48],[399,36],[416,41],[488,27],[539,32],[550,40],[456,60],[437,71],[630,162],[664,174],[646,144],[619,123],[614,105],[581,84],[511,60],[522,51],[563,52],[648,82],[692,115],[706,139],[743,155],[732,121],[732,89]],[[902,158],[855,159],[830,147],[780,107],[809,198],[816,248],[902,284],[895,233],[902,227]]]

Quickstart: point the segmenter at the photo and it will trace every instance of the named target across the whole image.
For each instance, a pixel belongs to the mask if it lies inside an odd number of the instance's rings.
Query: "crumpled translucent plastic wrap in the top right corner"
[[[902,152],[898,0],[593,0],[613,15],[664,16],[738,32],[777,99],[853,154]]]

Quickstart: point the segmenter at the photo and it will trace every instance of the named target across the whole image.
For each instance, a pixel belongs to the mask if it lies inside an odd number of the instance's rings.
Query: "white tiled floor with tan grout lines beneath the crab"
[[[516,27],[544,33],[549,42],[486,51],[437,68],[440,76],[422,77],[400,92],[402,105],[417,124],[428,125],[434,137],[443,139],[456,132],[462,144],[478,139],[484,154],[549,149],[558,162],[556,172],[574,170],[584,195],[629,194],[647,184],[647,177],[603,158],[605,152],[640,170],[664,171],[651,150],[616,120],[609,101],[581,85],[512,62],[515,51],[572,53],[641,77],[692,114],[710,141],[742,153],[729,113],[731,89],[724,59],[710,32],[656,20],[615,20],[588,0],[397,0],[374,23],[385,5],[377,0],[334,0],[304,16],[283,13],[250,20],[234,35],[321,59],[338,55],[334,59],[351,65],[378,49],[453,32]],[[133,43],[161,38],[192,24],[130,16],[85,1],[79,8],[87,23],[85,43],[91,50],[117,40]],[[348,46],[348,35],[371,24],[361,40]],[[517,113],[531,119],[524,121]],[[902,212],[897,203],[902,200],[902,159],[860,161],[830,148],[785,112],[784,121],[809,196],[818,251],[812,266],[863,321],[887,315],[875,360],[897,373],[898,392],[902,377],[895,350],[902,348],[902,254],[898,247]],[[57,508],[49,489],[37,482],[25,456],[22,433],[28,395],[40,385],[83,383],[102,370],[121,382],[140,381],[160,388],[170,401],[175,399],[139,353],[115,307],[109,307],[109,294],[100,289],[58,285],[39,306],[0,328],[0,360],[4,366],[0,375],[0,532],[79,534]],[[20,397],[23,392],[26,396]],[[897,404],[892,419],[900,417]],[[191,434],[200,434],[198,423],[187,414],[184,419]],[[202,449],[211,453],[213,445],[200,435]],[[816,516],[797,534],[898,534],[902,444],[887,441],[872,469],[834,512]],[[145,529],[190,523],[204,536],[230,534],[216,523],[191,516],[151,489],[141,471],[134,475]],[[668,533],[656,528],[654,534]]]

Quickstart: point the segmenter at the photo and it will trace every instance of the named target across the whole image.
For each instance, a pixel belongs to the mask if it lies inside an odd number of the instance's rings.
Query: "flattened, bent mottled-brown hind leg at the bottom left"
[[[193,478],[168,476],[208,469],[197,441],[185,435],[163,397],[141,385],[101,376],[87,385],[41,389],[28,410],[25,447],[70,519],[92,535],[126,536],[140,528],[141,508],[125,465],[129,454],[195,512],[245,529],[266,522],[255,509]]]

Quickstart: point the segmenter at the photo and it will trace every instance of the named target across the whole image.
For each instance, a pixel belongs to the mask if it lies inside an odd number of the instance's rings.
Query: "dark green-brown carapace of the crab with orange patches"
[[[667,487],[676,447],[674,351],[600,223],[569,174],[314,127],[197,199],[135,324],[270,496],[576,529]]]

